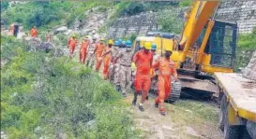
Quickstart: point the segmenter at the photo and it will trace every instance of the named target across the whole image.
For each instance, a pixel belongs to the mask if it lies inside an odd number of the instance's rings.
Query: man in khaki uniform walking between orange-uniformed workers
[[[93,68],[93,65],[94,65],[94,60],[95,60],[95,56],[94,56],[94,50],[96,48],[96,45],[97,45],[97,38],[96,37],[93,37],[93,42],[89,45],[87,51],[87,59],[86,59],[86,66],[89,66],[90,64],[90,67]]]

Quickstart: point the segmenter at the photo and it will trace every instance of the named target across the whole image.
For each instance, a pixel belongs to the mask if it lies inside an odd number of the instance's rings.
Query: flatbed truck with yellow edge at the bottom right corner
[[[248,63],[248,77],[215,73],[220,88],[219,127],[225,139],[256,139],[256,51]],[[244,74],[245,75],[245,74]]]

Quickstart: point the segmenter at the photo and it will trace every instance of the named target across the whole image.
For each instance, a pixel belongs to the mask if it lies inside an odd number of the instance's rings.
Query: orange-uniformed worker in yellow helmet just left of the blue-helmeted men
[[[109,46],[106,47],[105,52],[102,54],[102,58],[104,59],[104,68],[103,68],[103,75],[104,79],[109,79],[109,66],[112,59],[112,49],[113,46],[113,40],[109,40]]]

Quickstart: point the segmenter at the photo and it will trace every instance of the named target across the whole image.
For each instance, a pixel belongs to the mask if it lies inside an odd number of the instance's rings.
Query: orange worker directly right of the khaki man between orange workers
[[[96,55],[96,71],[99,70],[100,65],[102,63],[101,56],[103,54],[104,49],[105,49],[104,38],[101,38],[94,50],[94,54]]]

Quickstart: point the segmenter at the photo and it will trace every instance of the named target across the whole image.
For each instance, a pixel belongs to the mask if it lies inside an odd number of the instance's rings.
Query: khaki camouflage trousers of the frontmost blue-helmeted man
[[[131,67],[120,65],[120,86],[122,93],[126,93],[131,85]]]

